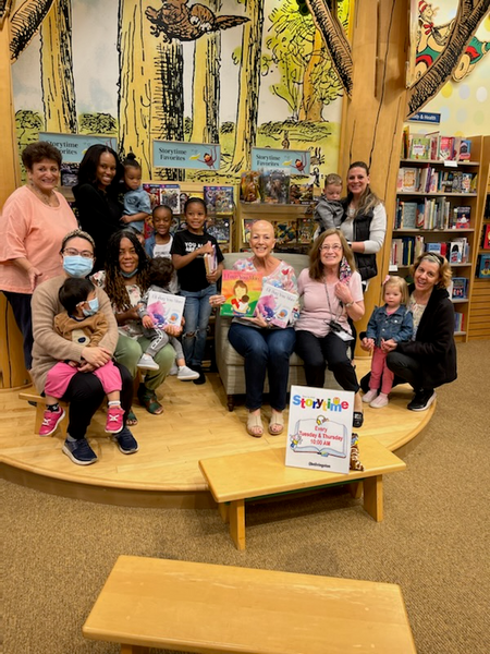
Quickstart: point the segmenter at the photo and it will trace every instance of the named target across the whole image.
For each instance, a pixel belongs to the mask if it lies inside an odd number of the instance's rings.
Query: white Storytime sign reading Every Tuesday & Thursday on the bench
[[[354,393],[292,386],[285,464],[348,473]]]

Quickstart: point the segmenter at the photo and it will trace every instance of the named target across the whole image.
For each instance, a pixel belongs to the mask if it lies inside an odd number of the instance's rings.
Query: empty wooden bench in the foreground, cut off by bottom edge
[[[399,585],[120,556],[83,634],[217,654],[416,654]]]

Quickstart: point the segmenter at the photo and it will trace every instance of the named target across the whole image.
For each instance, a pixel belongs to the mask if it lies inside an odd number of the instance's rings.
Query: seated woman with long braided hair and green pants
[[[133,378],[137,374],[137,363],[150,344],[143,335],[142,320],[137,304],[149,287],[148,258],[145,250],[132,230],[121,230],[109,239],[105,270],[93,277],[95,283],[103,287],[112,303],[118,322],[119,340],[114,358],[127,367]],[[180,327],[168,325],[163,328],[170,336],[179,336]],[[175,351],[170,343],[155,356],[158,370],[148,371],[138,388],[138,399],[143,407],[154,415],[163,412],[157,399],[156,390],[163,383],[174,362]],[[136,424],[133,412],[130,424]]]

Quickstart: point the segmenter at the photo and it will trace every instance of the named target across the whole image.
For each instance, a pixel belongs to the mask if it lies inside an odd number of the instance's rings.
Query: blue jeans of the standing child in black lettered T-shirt
[[[184,289],[181,289],[181,295],[185,298],[185,325],[182,335],[182,347],[184,348],[187,365],[201,365],[203,363],[209,316],[212,311],[209,298],[216,295],[216,283],[210,283],[201,291],[184,291]]]

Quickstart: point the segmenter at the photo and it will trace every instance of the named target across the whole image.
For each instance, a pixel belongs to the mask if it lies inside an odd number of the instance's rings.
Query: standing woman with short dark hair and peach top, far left
[[[60,150],[39,141],[24,149],[22,161],[27,183],[7,199],[0,217],[0,289],[24,337],[24,362],[29,370],[33,291],[38,283],[61,274],[58,246],[68,231],[76,229],[76,218],[56,191],[60,181]]]

